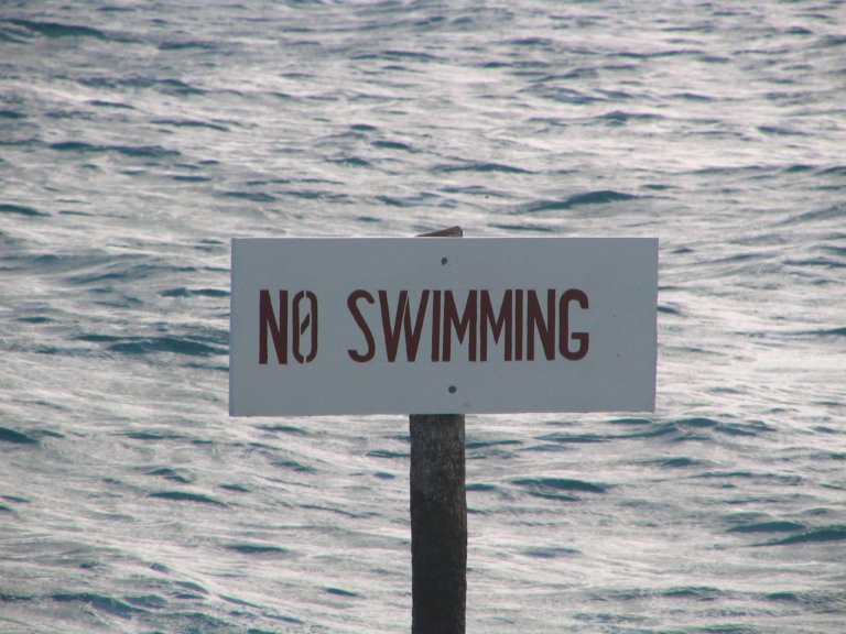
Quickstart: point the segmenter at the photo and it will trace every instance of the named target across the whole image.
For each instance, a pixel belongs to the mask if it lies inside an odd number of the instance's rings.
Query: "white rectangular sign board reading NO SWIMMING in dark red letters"
[[[652,411],[658,240],[232,240],[234,416]]]

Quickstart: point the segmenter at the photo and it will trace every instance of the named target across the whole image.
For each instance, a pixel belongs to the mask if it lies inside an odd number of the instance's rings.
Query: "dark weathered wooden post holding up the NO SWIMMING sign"
[[[460,227],[425,237],[460,237]],[[464,414],[412,414],[412,634],[464,634],[467,493]]]

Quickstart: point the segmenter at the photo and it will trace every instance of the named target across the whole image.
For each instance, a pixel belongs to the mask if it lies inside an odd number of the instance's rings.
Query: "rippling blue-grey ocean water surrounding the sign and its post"
[[[467,417],[467,631],[846,631],[846,4],[0,3],[0,632],[411,621],[408,419],[229,418],[234,237],[660,239],[658,405]]]

